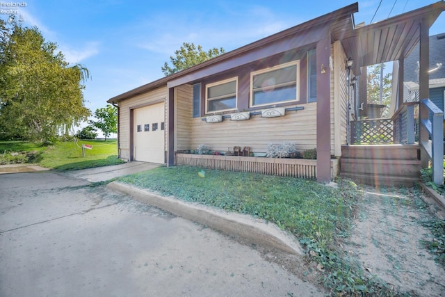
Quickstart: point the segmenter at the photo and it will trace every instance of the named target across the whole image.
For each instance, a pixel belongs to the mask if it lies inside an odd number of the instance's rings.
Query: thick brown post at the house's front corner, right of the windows
[[[331,181],[330,49],[330,31],[327,30],[326,38],[319,40],[316,46],[318,182]]]

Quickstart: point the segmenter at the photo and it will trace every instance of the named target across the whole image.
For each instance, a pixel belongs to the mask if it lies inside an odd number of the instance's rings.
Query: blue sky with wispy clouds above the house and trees
[[[23,1],[4,1],[22,3]],[[435,0],[359,1],[355,24],[386,19]],[[182,45],[231,51],[354,1],[30,0],[17,8],[24,26],[38,26],[66,61],[90,70],[84,97],[95,111],[106,100],[163,77],[161,67]],[[394,6],[394,8],[393,8]],[[1,9],[11,9],[5,6]],[[391,11],[392,9],[392,11]],[[7,19],[8,15],[0,14]],[[445,32],[445,13],[430,35]]]

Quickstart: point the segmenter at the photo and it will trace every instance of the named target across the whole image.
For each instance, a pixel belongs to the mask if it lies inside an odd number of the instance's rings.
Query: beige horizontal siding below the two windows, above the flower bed
[[[316,147],[316,104],[307,104],[301,111],[287,111],[278,118],[252,115],[250,120],[223,120],[207,123],[201,118],[192,120],[191,149],[204,143],[210,150],[233,150],[249,146],[253,152],[266,152],[269,143],[295,141],[298,150]]]

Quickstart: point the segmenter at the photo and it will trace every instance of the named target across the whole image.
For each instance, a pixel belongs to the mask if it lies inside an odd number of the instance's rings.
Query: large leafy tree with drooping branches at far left
[[[51,141],[60,127],[86,120],[83,83],[88,70],[69,65],[37,27],[0,19],[0,134]]]

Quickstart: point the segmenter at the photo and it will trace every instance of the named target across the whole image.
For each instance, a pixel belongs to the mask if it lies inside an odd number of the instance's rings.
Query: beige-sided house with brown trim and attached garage
[[[108,103],[119,111],[119,157],[329,182],[339,172],[354,118],[351,80],[363,66],[405,58],[419,40],[423,48],[443,10],[439,1],[356,28],[353,3],[113,97]],[[426,63],[428,55],[421,56],[421,73]],[[316,161],[259,157],[268,144],[285,141],[301,151],[316,148]],[[219,152],[248,147],[254,157],[188,154],[207,158],[196,163],[181,154],[200,144]]]

